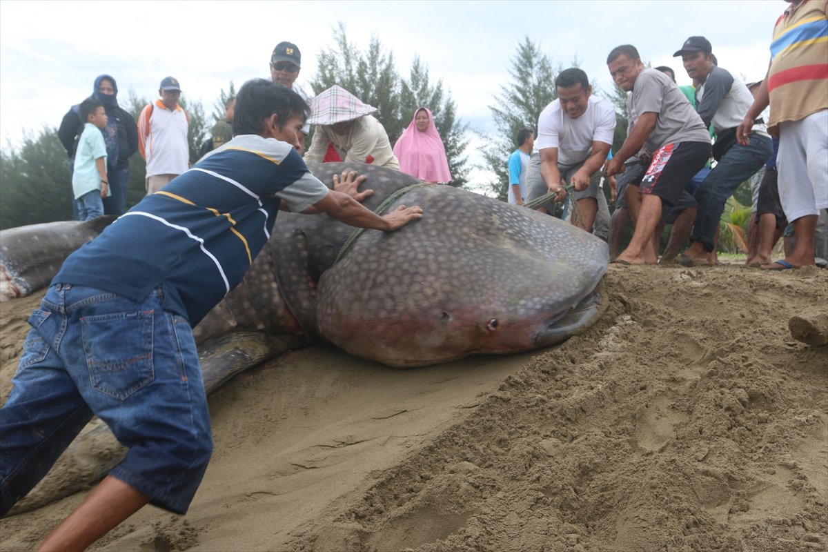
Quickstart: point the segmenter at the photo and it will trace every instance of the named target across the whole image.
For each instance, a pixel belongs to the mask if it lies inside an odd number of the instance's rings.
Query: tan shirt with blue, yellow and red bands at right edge
[[[828,109],[826,0],[794,2],[773,27],[768,71],[771,120],[800,121]]]

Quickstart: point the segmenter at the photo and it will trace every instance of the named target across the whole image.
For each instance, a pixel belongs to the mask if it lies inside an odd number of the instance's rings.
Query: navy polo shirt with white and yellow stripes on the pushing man
[[[195,326],[242,281],[282,199],[298,213],[328,192],[290,144],[238,136],[72,253],[52,283],[136,301],[162,286],[165,310]]]

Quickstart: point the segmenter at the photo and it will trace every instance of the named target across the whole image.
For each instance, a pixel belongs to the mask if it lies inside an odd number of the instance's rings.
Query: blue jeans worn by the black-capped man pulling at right
[[[748,146],[737,142],[730,147],[696,190],[699,212],[690,235],[691,242],[701,242],[706,251],[713,251],[724,204],[740,184],[768,162],[771,153],[771,139],[756,132],[750,135]]]

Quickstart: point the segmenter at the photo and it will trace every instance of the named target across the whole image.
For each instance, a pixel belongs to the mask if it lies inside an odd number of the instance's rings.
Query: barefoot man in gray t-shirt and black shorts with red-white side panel
[[[652,151],[652,161],[638,185],[626,190],[635,221],[633,239],[614,262],[653,264],[657,253],[652,233],[662,218],[662,203],[672,206],[687,182],[710,157],[710,135],[698,113],[661,71],[645,69],[635,46],[617,46],[607,57],[609,74],[626,92],[629,118],[635,121],[621,149],[607,164],[607,175],[624,171],[624,161],[642,147]]]

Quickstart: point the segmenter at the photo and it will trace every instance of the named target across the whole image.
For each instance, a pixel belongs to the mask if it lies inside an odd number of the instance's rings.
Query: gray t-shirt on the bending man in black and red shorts
[[[656,126],[644,142],[647,151],[679,142],[710,143],[710,134],[696,109],[661,71],[645,69],[638,74],[627,98],[627,110],[629,119],[636,122],[642,113],[657,114]]]

